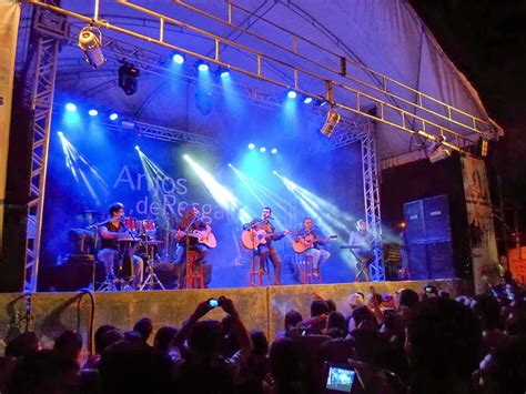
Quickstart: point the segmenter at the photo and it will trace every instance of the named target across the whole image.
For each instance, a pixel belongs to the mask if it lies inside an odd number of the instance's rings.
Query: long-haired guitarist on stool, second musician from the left
[[[196,251],[199,253],[195,265],[205,263],[209,247],[200,243],[198,238],[186,235],[186,233],[193,233],[194,231],[201,232],[203,238],[205,238],[210,232],[212,232],[212,228],[200,219],[199,210],[194,205],[189,205],[183,212],[175,235],[178,249],[175,250],[174,261],[179,266],[182,266],[182,264],[186,261],[186,245],[190,251]],[[184,277],[184,271],[185,269],[181,270],[180,272],[180,281]],[[182,283],[184,283],[184,280],[182,280],[181,284]]]

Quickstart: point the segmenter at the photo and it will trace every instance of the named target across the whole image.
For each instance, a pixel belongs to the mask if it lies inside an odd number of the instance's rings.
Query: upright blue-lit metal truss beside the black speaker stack
[[[368,231],[374,235],[376,245],[373,247],[374,261],[371,264],[371,279],[373,281],[383,281],[383,251],[378,242],[382,238],[382,218],[380,214],[380,182],[378,182],[378,166],[376,156],[376,143],[374,139],[375,128],[374,122],[370,122],[370,132],[362,134],[362,172],[363,172],[363,188],[364,188],[364,203],[365,203],[365,221],[367,222]]]

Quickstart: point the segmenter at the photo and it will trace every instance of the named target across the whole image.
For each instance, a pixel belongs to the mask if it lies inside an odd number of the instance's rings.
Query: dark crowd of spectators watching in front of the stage
[[[427,285],[429,287],[429,285]],[[246,332],[226,297],[201,302],[180,330],[149,317],[132,331],[101,325],[82,368],[82,337],[65,331],[53,350],[33,332],[9,341],[0,363],[1,393],[324,393],[324,363],[356,372],[355,393],[526,392],[526,301],[509,280],[451,300],[433,286],[383,296],[351,295],[348,322],[317,293],[311,316],[291,310],[270,345]],[[446,294],[447,293],[447,294]],[[447,295],[447,296],[446,296]],[[368,300],[366,303],[365,300]],[[214,307],[225,315],[206,320]]]

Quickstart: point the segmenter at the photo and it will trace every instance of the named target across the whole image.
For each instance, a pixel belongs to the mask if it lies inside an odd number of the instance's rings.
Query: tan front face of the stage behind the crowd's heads
[[[433,283],[452,296],[471,294],[471,283],[463,280],[434,280],[407,282],[310,284],[245,289],[206,289],[178,291],[108,292],[92,293],[7,293],[0,294],[2,345],[23,332],[27,324],[36,331],[43,346],[51,346],[53,339],[64,330],[80,332],[88,343],[90,324],[112,324],[123,331],[131,330],[140,317],[153,320],[154,332],[163,325],[181,326],[195,306],[210,297],[225,295],[234,301],[247,330],[262,330],[272,339],[283,330],[283,319],[294,309],[308,317],[312,293],[336,302],[338,311],[350,314],[348,299],[353,292],[370,293],[374,285],[378,293],[394,293],[398,289],[422,291],[425,283]],[[30,319],[26,319],[31,305]],[[211,311],[206,317],[221,320],[221,309]],[[153,339],[152,339],[153,340]]]

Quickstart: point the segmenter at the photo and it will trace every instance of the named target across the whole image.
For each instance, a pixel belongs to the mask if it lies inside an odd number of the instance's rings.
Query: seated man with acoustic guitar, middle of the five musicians
[[[250,223],[243,225],[243,230],[252,229],[254,231],[263,230],[267,234],[274,233],[275,228],[270,222],[272,220],[272,210],[269,206],[263,208],[261,211],[261,219],[253,219]],[[265,260],[269,257],[274,266],[274,284],[281,284],[281,259],[277,254],[276,249],[273,245],[273,241],[279,241],[290,233],[289,230],[285,230],[283,233],[273,234],[266,238],[266,243],[260,243],[257,249],[254,251],[254,254],[260,259],[260,266],[265,266]]]

